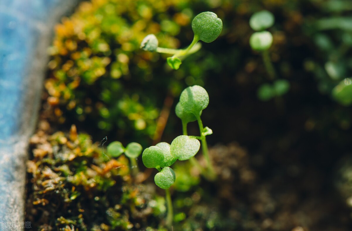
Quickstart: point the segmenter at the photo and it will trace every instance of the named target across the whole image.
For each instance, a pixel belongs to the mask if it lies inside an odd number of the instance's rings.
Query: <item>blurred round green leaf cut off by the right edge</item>
[[[352,104],[352,79],[347,78],[342,80],[332,90],[332,97],[344,106]]]

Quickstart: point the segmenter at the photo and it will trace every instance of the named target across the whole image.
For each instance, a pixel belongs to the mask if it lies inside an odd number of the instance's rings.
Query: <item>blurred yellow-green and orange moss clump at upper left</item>
[[[45,81],[53,119],[69,123],[75,118],[105,132],[119,130],[120,137],[152,137],[168,87],[156,91],[155,79],[162,77],[155,76],[150,63],[158,55],[139,45],[153,33],[160,44],[178,46],[171,32],[179,31],[180,24],[164,25],[173,21],[165,12],[171,6],[175,3],[153,0],[82,2],[73,15],[62,19],[55,27],[51,72]],[[186,14],[179,17],[189,23]],[[167,85],[169,80],[161,82]]]

